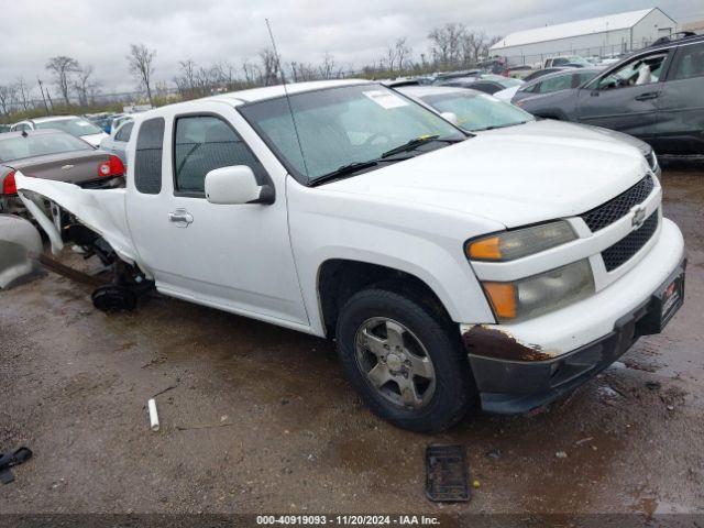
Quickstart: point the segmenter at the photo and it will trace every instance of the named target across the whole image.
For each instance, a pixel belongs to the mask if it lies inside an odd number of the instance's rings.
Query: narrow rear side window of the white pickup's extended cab
[[[162,151],[164,145],[164,118],[147,119],[136,136],[134,154],[134,185],[145,195],[162,191]]]

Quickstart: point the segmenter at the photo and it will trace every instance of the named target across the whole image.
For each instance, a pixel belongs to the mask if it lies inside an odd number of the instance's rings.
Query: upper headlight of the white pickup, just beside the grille
[[[464,251],[471,261],[505,262],[539,253],[575,239],[576,234],[570,223],[560,220],[484,237],[468,242]]]

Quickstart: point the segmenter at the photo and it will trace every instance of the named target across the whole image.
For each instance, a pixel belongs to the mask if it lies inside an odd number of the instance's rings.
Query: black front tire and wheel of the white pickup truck
[[[385,420],[438,432],[476,406],[459,333],[421,304],[384,289],[360,292],[342,308],[336,334],[348,380]]]

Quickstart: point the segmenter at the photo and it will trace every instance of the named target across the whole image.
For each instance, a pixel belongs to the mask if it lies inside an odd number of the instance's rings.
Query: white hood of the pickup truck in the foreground
[[[579,128],[538,133],[551,125],[529,124],[482,133],[322,187],[452,209],[514,228],[585,212],[648,172],[638,148],[624,142]]]

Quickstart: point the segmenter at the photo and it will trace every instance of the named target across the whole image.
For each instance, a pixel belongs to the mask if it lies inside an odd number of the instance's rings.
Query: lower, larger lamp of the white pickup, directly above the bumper
[[[482,283],[499,322],[515,322],[547,314],[594,294],[588,260],[510,283]]]

